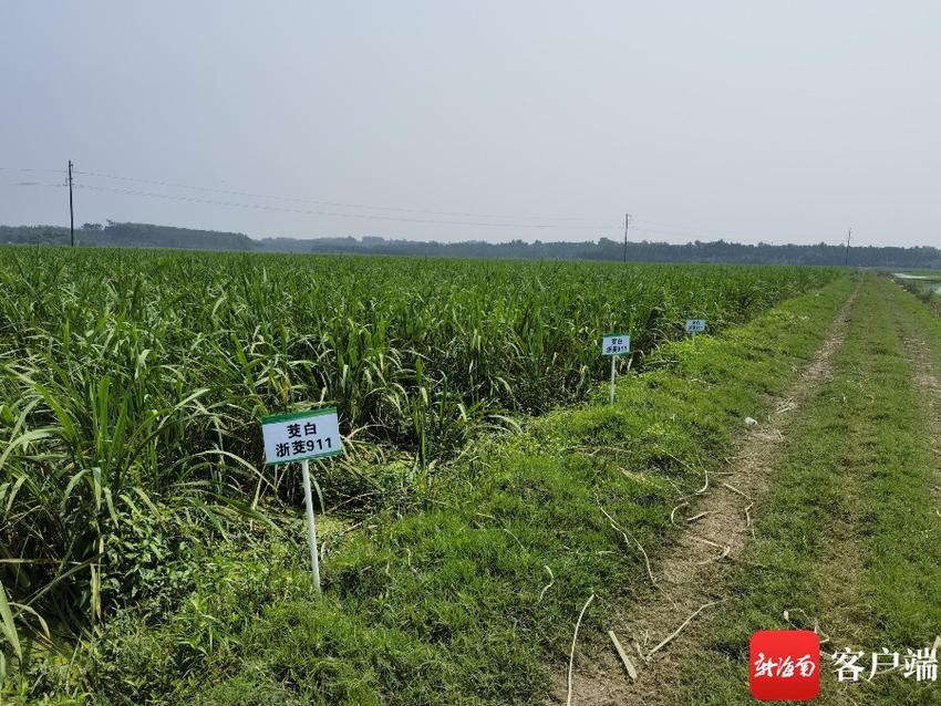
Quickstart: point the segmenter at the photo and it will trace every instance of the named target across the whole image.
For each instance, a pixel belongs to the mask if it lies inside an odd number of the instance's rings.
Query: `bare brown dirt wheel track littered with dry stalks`
[[[713,604],[723,599],[727,573],[753,537],[751,511],[784,454],[790,421],[833,375],[833,356],[846,336],[846,322],[858,292],[859,287],[844,304],[814,361],[786,394],[771,401],[772,414],[740,438],[727,467],[712,474],[689,503],[674,509],[672,520],[679,531],[673,543],[653,559],[656,586],[624,605],[612,626],[637,666],[637,681],[627,678],[613,650],[577,653],[573,703],[672,703],[680,686],[682,655],[695,650],[696,619],[714,610]],[[694,614],[679,635],[660,646]],[[650,656],[652,651],[655,654]],[[650,656],[650,661],[640,657],[640,653]],[[556,703],[566,703],[566,681],[559,679]]]

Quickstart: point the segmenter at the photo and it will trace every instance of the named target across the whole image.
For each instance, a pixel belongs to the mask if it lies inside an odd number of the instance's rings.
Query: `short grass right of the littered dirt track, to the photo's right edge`
[[[835,377],[792,430],[758,510],[757,541],[730,581],[730,601],[703,624],[703,648],[686,662],[687,689],[675,703],[754,703],[751,634],[815,624],[829,637],[819,703],[941,703],[941,684],[900,673],[838,683],[827,656],[862,650],[868,677],[871,652],[929,646],[941,626],[930,427],[897,326],[906,298],[867,277]]]

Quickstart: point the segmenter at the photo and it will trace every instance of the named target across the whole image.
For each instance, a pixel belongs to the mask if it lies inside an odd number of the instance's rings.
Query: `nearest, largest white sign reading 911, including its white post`
[[[307,506],[307,533],[310,543],[310,568],[313,574],[313,585],[320,592],[320,557],[317,551],[313,497],[310,492],[310,459],[327,458],[343,453],[337,408],[324,407],[263,417],[261,419],[261,435],[265,439],[266,466],[301,461],[303,496]]]

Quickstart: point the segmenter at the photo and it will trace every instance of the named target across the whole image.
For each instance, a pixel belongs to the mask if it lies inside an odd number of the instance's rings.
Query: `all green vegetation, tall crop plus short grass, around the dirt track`
[[[591,663],[678,551],[676,503],[726,473],[745,417],[764,424],[858,285],[810,268],[13,248],[0,281],[6,695],[219,705],[559,698],[586,600]],[[742,698],[742,645],[782,606],[872,648],[935,630],[937,390],[917,381],[941,362],[941,320],[887,279],[860,287],[867,325],[829,341],[754,541],[711,580],[736,603],[671,645],[691,691],[642,675],[644,703]],[[710,322],[695,345],[686,316]],[[612,330],[634,355],[608,406]],[[299,480],[262,467],[258,423],[328,403],[349,453],[316,464],[317,598]],[[827,575],[842,502],[848,594]]]

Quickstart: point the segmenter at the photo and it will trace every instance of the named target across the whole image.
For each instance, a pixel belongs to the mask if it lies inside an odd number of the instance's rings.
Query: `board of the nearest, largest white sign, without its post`
[[[269,466],[337,456],[343,451],[335,407],[265,417],[261,435],[265,437],[265,464]]]

